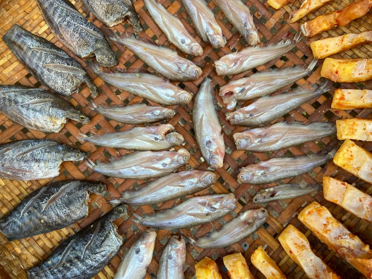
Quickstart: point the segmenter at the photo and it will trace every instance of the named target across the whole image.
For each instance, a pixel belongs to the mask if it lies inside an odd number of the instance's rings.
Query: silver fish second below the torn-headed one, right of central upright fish
[[[319,140],[334,133],[336,127],[330,122],[279,122],[269,127],[236,133],[234,141],[238,150],[267,152]]]

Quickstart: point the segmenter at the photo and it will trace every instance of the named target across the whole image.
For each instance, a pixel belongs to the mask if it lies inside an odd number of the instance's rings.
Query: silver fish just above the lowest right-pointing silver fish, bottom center
[[[195,196],[162,213],[140,217],[133,213],[133,222],[162,230],[179,230],[216,220],[236,210],[234,194]]]

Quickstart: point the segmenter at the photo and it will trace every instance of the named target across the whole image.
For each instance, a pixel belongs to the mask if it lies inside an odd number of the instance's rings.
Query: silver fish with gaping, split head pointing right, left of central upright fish
[[[92,143],[99,146],[122,148],[126,150],[161,150],[180,146],[185,140],[182,134],[174,130],[171,124],[160,124],[151,127],[135,127],[131,130],[108,133],[103,135],[86,135],[80,133],[81,142]]]

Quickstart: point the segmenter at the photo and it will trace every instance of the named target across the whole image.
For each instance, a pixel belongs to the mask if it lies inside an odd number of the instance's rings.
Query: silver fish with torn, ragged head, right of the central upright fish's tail
[[[306,69],[303,66],[294,66],[280,71],[256,73],[248,78],[232,81],[222,86],[218,95],[228,105],[228,109],[233,109],[237,101],[246,101],[271,94],[309,75],[317,61],[317,59],[311,61]]]

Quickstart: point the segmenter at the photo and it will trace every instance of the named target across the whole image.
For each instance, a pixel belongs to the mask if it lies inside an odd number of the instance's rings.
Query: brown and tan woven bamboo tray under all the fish
[[[190,18],[185,12],[184,8],[178,0],[161,0],[160,1],[169,12],[178,16],[178,18],[183,22],[188,31],[193,34],[195,31],[192,28]],[[101,27],[104,32],[107,32],[107,27],[96,20],[94,16],[89,13],[83,3],[79,0],[77,2],[72,1],[75,7],[82,12],[84,16],[93,21],[97,26]],[[217,21],[222,28],[225,37],[228,39],[228,44],[222,49],[212,49],[210,45],[206,45],[202,40],[196,35],[197,40],[201,43],[204,48],[204,54],[201,57],[196,57],[193,61],[203,68],[202,78],[208,76],[217,83],[217,88],[228,83],[229,77],[218,77],[213,68],[213,61],[219,59],[219,57],[230,53],[232,51],[240,50],[245,47],[245,41],[241,38],[239,33],[236,32],[235,28],[227,21],[224,15],[221,13],[219,8],[216,6],[213,0],[207,0],[209,8],[215,13]],[[314,14],[310,14],[300,21],[302,23],[304,20],[310,20],[314,17],[324,14],[329,11],[340,10],[345,7],[349,2],[347,0],[335,0],[326,4],[324,7],[320,8]],[[277,11],[274,11],[271,7],[267,5],[266,0],[262,3],[258,0],[247,1],[246,4],[251,9],[254,14],[254,22],[258,27],[260,37],[264,43],[275,43],[282,38],[286,38],[288,35],[293,38],[293,34],[299,29],[300,23],[287,24],[286,19],[288,18],[288,13],[291,10],[296,10],[300,7],[301,2],[295,1],[293,4],[289,4]],[[147,13],[144,3],[142,0],[137,0],[135,2],[135,8],[138,11],[141,21],[144,26],[145,35],[148,38],[156,40],[159,44],[169,45],[166,36],[160,31],[154,21],[151,19],[150,15]],[[55,36],[51,33],[48,26],[46,25],[43,16],[34,0],[5,0],[1,3],[0,0],[0,35],[7,32],[14,24],[19,24],[28,31],[42,36],[52,43],[55,43],[58,47],[67,51],[71,56],[71,52],[64,47]],[[319,39],[324,36],[338,36],[344,33],[359,33],[366,30],[372,30],[372,14],[368,13],[366,16],[352,21],[350,25],[345,27],[338,27],[332,29],[323,34],[319,34],[309,41],[302,39],[295,48],[289,51],[285,56],[273,60],[265,65],[259,66],[257,71],[265,71],[270,67],[285,67],[297,64],[308,64],[312,60],[312,52],[308,47],[310,41]],[[125,23],[124,25],[118,25],[114,27],[116,31],[124,32],[126,29],[132,31],[132,28]],[[133,53],[122,46],[113,45],[113,49],[120,57],[119,67],[121,68],[140,68],[147,67],[143,62]],[[356,57],[372,57],[372,45],[365,44],[341,52],[334,56],[345,57],[345,58],[356,58]],[[86,63],[78,58],[78,60],[86,66]],[[304,79],[296,82],[297,85],[309,83],[316,83],[320,79],[320,65],[322,61],[318,62],[318,66],[315,68],[314,72]],[[256,71],[256,70],[255,70]],[[141,102],[142,98],[128,94],[127,92],[121,92],[104,83],[100,78],[98,78],[92,71],[88,68],[88,73],[94,78],[97,86],[100,87],[102,93],[95,100],[97,104],[106,103],[110,105],[115,104],[129,104]],[[246,75],[251,75],[252,72]],[[244,74],[235,76],[233,79],[239,79],[243,77]],[[198,85],[201,83],[202,78],[194,82],[183,82],[179,85],[181,87],[186,87],[193,93],[198,90]],[[307,80],[307,81],[306,81]],[[32,87],[40,87],[40,83],[35,80],[23,67],[23,65],[17,60],[13,53],[8,49],[3,40],[0,40],[0,83],[1,84],[22,84]],[[363,84],[335,84],[335,87],[342,88],[367,88],[372,89],[372,82]],[[287,87],[289,88],[289,86]],[[293,87],[292,87],[293,88]],[[46,88],[45,88],[46,89]],[[280,92],[282,92],[281,90]],[[301,107],[296,110],[291,111],[289,114],[278,119],[282,120],[309,120],[309,121],[336,121],[340,118],[352,118],[352,117],[364,117],[370,118],[369,114],[371,110],[368,109],[355,109],[351,111],[339,111],[330,108],[332,102],[332,95],[334,89],[331,89],[328,93],[320,96],[317,99],[312,99],[311,101],[301,105]],[[85,143],[81,144],[77,141],[76,137],[79,132],[87,133],[88,131],[96,132],[97,130],[103,129],[107,132],[114,132],[116,130],[126,130],[132,127],[132,125],[121,125],[113,120],[106,119],[105,117],[92,112],[87,104],[91,101],[89,96],[89,91],[87,88],[83,88],[79,94],[73,94],[72,97],[68,98],[69,101],[82,109],[85,114],[90,114],[93,116],[92,122],[87,125],[82,125],[77,122],[69,121],[61,132],[57,134],[44,134],[42,132],[29,131],[23,126],[12,122],[3,114],[0,114],[0,143],[5,143],[9,141],[21,140],[24,138],[52,138],[53,140],[60,141],[64,144],[76,145],[84,151],[90,152],[92,160],[103,159],[105,157],[116,156],[118,153],[125,155],[127,151],[120,150],[116,151],[110,148],[96,147],[92,144]],[[88,97],[88,98],[87,98]],[[237,151],[234,141],[232,140],[232,135],[235,132],[244,130],[244,127],[235,127],[230,125],[225,119],[225,113],[227,109],[224,107],[222,100],[217,96],[219,102],[219,118],[223,124],[223,131],[225,137],[225,143],[227,146],[227,154],[225,156],[224,167],[215,171],[217,174],[217,182],[212,187],[203,191],[203,193],[229,193],[233,192],[239,199],[239,208],[232,215],[227,215],[221,220],[212,222],[212,224],[204,224],[193,228],[190,233],[196,237],[209,232],[211,229],[218,228],[223,224],[229,222],[233,217],[235,217],[240,211],[248,210],[254,208],[256,205],[252,202],[252,195],[258,191],[261,186],[252,186],[249,184],[239,184],[237,182],[237,175],[239,173],[239,168],[246,166],[249,163],[254,163],[259,160],[267,160],[274,157],[291,157],[295,155],[302,154],[312,154],[316,153],[322,149],[327,151],[332,150],[332,148],[338,144],[338,141],[334,137],[326,137],[318,142],[310,142],[302,146],[292,147],[285,150],[280,150],[273,153],[250,153]],[[246,103],[249,104],[251,101]],[[149,102],[151,104],[155,104]],[[241,105],[244,105],[241,104]],[[193,107],[193,102],[185,106],[170,106],[177,111],[176,116],[169,121],[170,124],[176,127],[177,131],[181,133],[186,140],[185,148],[192,154],[189,166],[187,168],[206,170],[207,164],[200,160],[201,154],[198,150],[197,143],[193,137],[193,129],[191,122],[190,112]],[[371,151],[372,143],[365,143],[363,147]],[[176,148],[177,149],[177,148]],[[85,164],[73,164],[71,162],[64,162],[61,167],[61,174],[54,179],[65,180],[65,179],[90,179],[90,180],[100,180],[108,185],[108,190],[111,195],[118,196],[119,191],[136,187],[138,184],[144,181],[135,180],[124,180],[119,178],[105,178],[97,173],[92,173],[92,171],[87,168]],[[341,180],[345,180],[348,183],[356,183],[356,187],[370,194],[372,192],[372,186],[368,183],[360,181],[356,177],[350,175],[342,169],[337,168],[332,161],[323,167],[317,167],[312,172],[308,174],[303,174],[300,177],[296,177],[292,180],[285,179],[281,183],[288,183],[289,181],[300,182],[302,180],[307,183],[322,182],[323,176],[333,176]],[[28,181],[28,182],[17,182],[7,179],[0,179],[0,217],[8,214],[13,208],[29,193],[35,189],[48,183],[48,180],[39,181]],[[274,186],[275,183],[269,184],[269,186]],[[268,187],[268,185],[263,185],[262,187]],[[198,193],[200,194],[200,193]],[[264,276],[250,264],[250,256],[252,252],[258,247],[263,246],[271,258],[278,264],[281,270],[287,275],[287,278],[306,278],[304,271],[297,266],[284,252],[280,246],[277,237],[280,235],[281,231],[287,224],[292,224],[299,228],[308,237],[313,250],[316,254],[321,257],[327,264],[333,268],[339,275],[343,278],[362,278],[363,276],[349,263],[339,258],[332,250],[330,250],[325,244],[320,242],[302,223],[297,220],[296,216],[303,207],[312,201],[318,201],[321,204],[327,206],[332,212],[333,216],[340,220],[353,234],[359,236],[365,243],[372,244],[372,225],[360,220],[352,214],[347,213],[341,207],[326,201],[323,198],[323,192],[319,191],[314,196],[305,195],[303,197],[297,197],[294,199],[287,199],[284,201],[270,202],[266,205],[266,209],[270,213],[270,217],[267,223],[260,228],[257,233],[248,237],[237,243],[235,245],[229,246],[227,248],[220,249],[209,249],[203,250],[200,248],[194,248],[187,244],[187,258],[186,258],[186,278],[195,278],[194,264],[204,258],[209,256],[217,262],[220,267],[220,273],[222,278],[228,278],[226,274],[226,269],[222,262],[222,257],[234,252],[242,252],[242,254],[247,258],[247,262],[250,265],[250,270],[257,278],[264,278]],[[140,206],[135,208],[130,208],[131,211],[135,211],[137,214],[150,213],[154,210],[169,208],[175,201],[168,201],[163,204],[158,204],[157,206]],[[101,216],[104,212],[109,211],[111,206],[105,201],[104,198],[98,197],[96,195],[92,196],[92,201],[90,202],[90,216],[77,224],[69,226],[65,229],[51,232],[44,235],[35,236],[32,238],[22,239],[14,242],[5,242],[4,240],[0,243],[0,278],[27,278],[25,268],[31,267],[37,264],[40,260],[45,259],[51,251],[68,236],[79,231],[82,227],[87,226],[94,219]],[[138,239],[144,227],[136,225],[132,221],[128,220],[126,222],[117,221],[120,233],[125,236],[126,242],[120,249],[119,253],[111,260],[111,262],[102,270],[95,278],[112,278],[119,263],[120,257],[126,252],[126,250]],[[159,230],[157,241],[155,245],[154,258],[147,269],[146,279],[156,278],[158,271],[159,259],[161,255],[161,250],[163,245],[166,243],[168,237],[172,234],[170,231]]]

